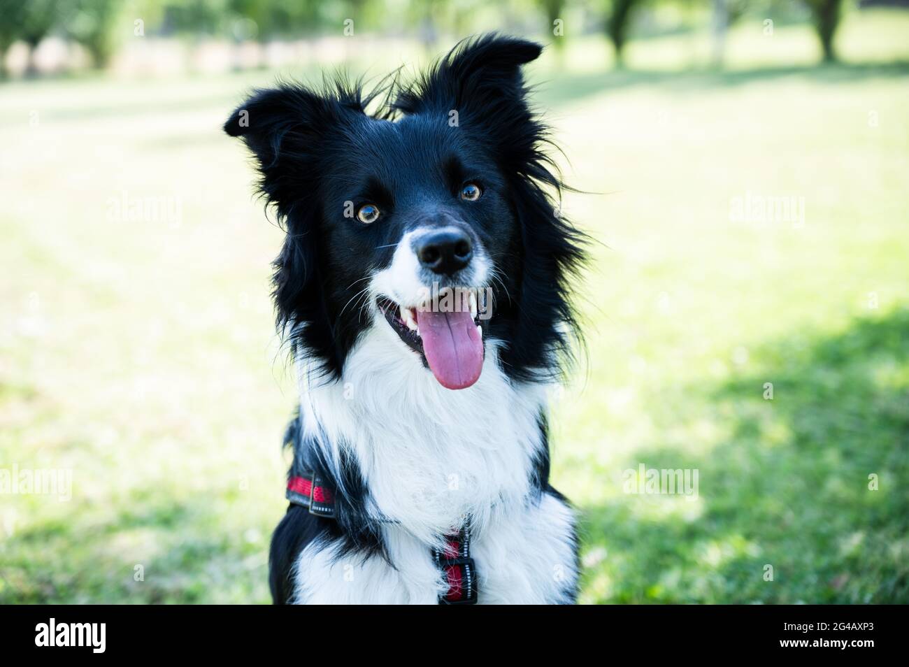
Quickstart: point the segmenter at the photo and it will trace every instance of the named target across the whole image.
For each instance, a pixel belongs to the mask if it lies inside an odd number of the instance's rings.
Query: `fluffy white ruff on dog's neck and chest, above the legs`
[[[511,381],[494,342],[479,381],[459,391],[385,328],[364,334],[340,379],[320,378],[304,355],[296,363],[304,435],[319,459],[335,478],[354,461],[370,511],[426,542],[466,515],[482,529],[547,483],[545,386]]]

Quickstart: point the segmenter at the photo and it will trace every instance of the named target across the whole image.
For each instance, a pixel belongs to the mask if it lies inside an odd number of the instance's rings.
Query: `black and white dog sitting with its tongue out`
[[[368,94],[256,90],[224,125],[286,231],[273,295],[300,404],[275,603],[576,599],[546,398],[581,340],[586,237],[528,103],[541,51],[481,35]]]

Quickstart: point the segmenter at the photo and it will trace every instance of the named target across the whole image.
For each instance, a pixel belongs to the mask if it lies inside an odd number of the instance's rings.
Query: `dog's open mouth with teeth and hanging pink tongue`
[[[385,321],[420,355],[442,386],[464,389],[479,379],[484,321],[479,318],[473,291],[415,307],[385,297],[379,297],[376,304]]]

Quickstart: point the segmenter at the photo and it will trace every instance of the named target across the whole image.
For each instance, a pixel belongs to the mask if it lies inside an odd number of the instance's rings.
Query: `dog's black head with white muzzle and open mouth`
[[[557,368],[583,254],[544,192],[560,182],[521,75],[540,51],[486,35],[385,86],[378,112],[359,86],[279,85],[226,122],[285,224],[278,324],[326,373],[370,327],[450,389],[478,379],[489,341],[514,379]]]

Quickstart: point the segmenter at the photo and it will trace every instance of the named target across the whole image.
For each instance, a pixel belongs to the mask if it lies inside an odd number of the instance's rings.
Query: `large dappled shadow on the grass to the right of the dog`
[[[729,438],[700,456],[657,446],[622,462],[697,469],[696,503],[620,494],[586,509],[585,552],[605,550],[585,572],[588,597],[909,602],[909,311],[780,341],[751,367],[718,387],[684,388],[709,405],[684,419],[731,425]]]

